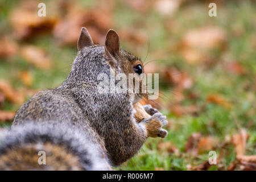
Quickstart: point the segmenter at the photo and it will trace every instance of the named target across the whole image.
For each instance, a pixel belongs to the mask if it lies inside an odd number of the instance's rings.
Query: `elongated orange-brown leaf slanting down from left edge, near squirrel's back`
[[[14,104],[22,104],[25,100],[24,94],[14,90],[14,88],[5,80],[0,80],[0,92],[3,93],[5,98]]]

